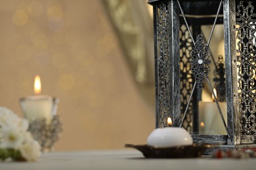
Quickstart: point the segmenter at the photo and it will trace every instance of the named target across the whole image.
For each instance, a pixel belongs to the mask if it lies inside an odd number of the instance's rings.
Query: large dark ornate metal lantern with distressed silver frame
[[[184,127],[191,133],[194,143],[220,144],[217,148],[223,149],[255,147],[256,3],[148,3],[154,9],[156,127],[167,126],[170,116],[173,126]],[[217,25],[222,27],[221,35],[215,32]],[[205,27],[211,29],[205,31]],[[214,33],[222,37],[223,44],[211,41]],[[223,46],[222,56],[212,46]],[[203,103],[205,92],[213,95],[215,103]],[[203,105],[209,106],[206,112],[202,112]],[[215,105],[217,112],[209,114],[211,105]],[[206,114],[208,118],[203,119]],[[216,122],[216,118],[220,121]],[[208,126],[222,127],[224,132],[200,131],[201,120]]]

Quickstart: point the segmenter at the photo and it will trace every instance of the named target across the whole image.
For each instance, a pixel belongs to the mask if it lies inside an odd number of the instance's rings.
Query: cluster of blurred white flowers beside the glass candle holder
[[[19,150],[27,161],[41,155],[41,146],[28,132],[28,121],[5,107],[0,107],[0,148]]]

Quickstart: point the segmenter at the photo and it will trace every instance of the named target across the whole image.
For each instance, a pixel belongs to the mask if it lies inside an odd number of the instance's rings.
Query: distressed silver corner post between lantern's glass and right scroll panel
[[[226,72],[226,107],[228,116],[228,144],[239,143],[238,87],[236,78],[236,2],[224,0],[224,49]],[[236,129],[236,131],[235,131]]]

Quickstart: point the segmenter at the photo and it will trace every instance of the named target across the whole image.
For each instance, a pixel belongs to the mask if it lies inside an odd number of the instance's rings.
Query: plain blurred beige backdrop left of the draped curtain
[[[101,1],[1,0],[0,22],[1,106],[22,116],[19,98],[33,95],[40,75],[42,94],[60,99],[55,150],[146,143],[154,106],[140,95]]]

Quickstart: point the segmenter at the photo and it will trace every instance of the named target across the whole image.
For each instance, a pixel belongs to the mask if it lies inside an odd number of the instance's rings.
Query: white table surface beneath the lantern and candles
[[[39,161],[31,163],[0,162],[0,170],[43,169],[256,169],[256,159],[147,159],[137,150],[98,150],[84,152],[43,153]]]

